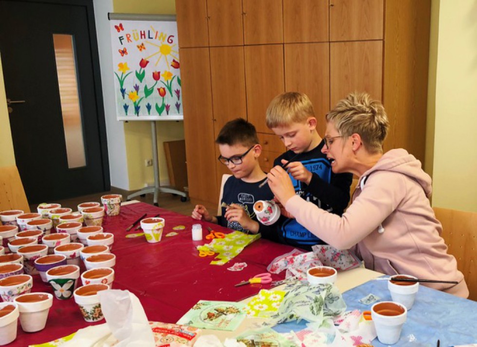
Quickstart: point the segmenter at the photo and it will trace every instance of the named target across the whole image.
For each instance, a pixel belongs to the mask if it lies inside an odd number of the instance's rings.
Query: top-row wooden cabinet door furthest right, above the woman
[[[384,0],[330,0],[330,41],[382,40]]]

